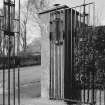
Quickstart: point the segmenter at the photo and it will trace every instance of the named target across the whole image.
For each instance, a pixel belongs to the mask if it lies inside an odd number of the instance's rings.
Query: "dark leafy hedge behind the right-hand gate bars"
[[[75,41],[75,72],[85,72],[85,78],[89,78],[89,72],[94,71],[95,82],[101,83],[105,81],[105,27],[87,27],[83,31],[77,32]]]

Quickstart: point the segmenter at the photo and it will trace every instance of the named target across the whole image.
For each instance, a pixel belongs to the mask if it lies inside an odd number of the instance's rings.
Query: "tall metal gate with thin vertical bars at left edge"
[[[17,13],[15,13],[15,0],[4,0],[0,16],[1,105],[20,105],[19,39],[20,0]]]

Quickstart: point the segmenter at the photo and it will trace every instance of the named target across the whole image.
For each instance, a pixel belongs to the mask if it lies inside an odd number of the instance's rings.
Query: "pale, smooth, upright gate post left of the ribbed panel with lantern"
[[[49,99],[50,84],[50,42],[49,42],[49,14],[40,15],[41,19],[41,97]]]

